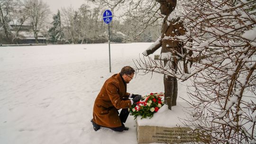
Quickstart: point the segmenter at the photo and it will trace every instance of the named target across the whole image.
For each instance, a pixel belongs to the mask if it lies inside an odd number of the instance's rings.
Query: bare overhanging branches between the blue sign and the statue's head
[[[120,14],[115,18],[120,19],[125,31],[130,31],[129,37],[136,39],[146,31],[148,27],[161,25],[163,18],[159,13],[159,4],[155,0],[91,0],[101,8],[111,9]],[[127,23],[128,22],[128,23]],[[133,27],[133,28],[131,28]]]

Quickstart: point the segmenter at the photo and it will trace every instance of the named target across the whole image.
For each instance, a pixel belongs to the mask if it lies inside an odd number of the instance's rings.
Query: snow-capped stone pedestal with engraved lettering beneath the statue
[[[137,123],[137,142],[138,144],[164,143],[182,144],[187,142],[205,142],[199,134],[193,133],[190,127],[186,127],[182,119],[186,119],[184,107],[185,101],[178,101],[177,106],[168,109],[163,105],[154,117],[136,118]]]

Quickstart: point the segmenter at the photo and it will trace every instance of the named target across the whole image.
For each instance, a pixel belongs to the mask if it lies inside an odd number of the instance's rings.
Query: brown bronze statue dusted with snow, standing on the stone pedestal
[[[168,18],[172,11],[176,7],[176,0],[156,0],[161,4],[160,11],[161,14],[165,15],[163,25],[162,25],[162,34],[153,45],[151,45],[146,51],[143,52],[143,55],[147,56],[153,54],[158,48],[162,46],[162,53],[172,53],[172,68],[174,72],[177,71],[178,60],[181,54],[186,55],[186,49],[183,48],[183,42],[179,39],[175,39],[174,36],[182,36],[185,34],[183,24],[180,21],[180,18]],[[184,60],[183,60],[184,61]],[[168,60],[164,61],[164,65],[168,63]],[[187,73],[187,66],[184,66],[184,71]],[[168,104],[168,108],[171,109],[172,106],[176,106],[176,100],[178,95],[178,83],[177,79],[173,76],[164,75],[164,85],[165,85],[165,103]]]

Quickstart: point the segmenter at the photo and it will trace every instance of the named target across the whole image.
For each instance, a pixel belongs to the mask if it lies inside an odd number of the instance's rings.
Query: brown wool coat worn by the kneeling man
[[[126,85],[121,75],[114,74],[103,84],[100,93],[94,102],[93,121],[105,127],[122,126],[118,109],[130,108],[131,101],[125,100],[129,97]]]

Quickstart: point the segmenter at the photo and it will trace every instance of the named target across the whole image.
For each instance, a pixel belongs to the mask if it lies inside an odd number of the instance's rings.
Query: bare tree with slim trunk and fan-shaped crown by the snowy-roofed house
[[[42,0],[26,0],[25,8],[38,43],[38,32],[44,27],[50,14],[49,6]]]

